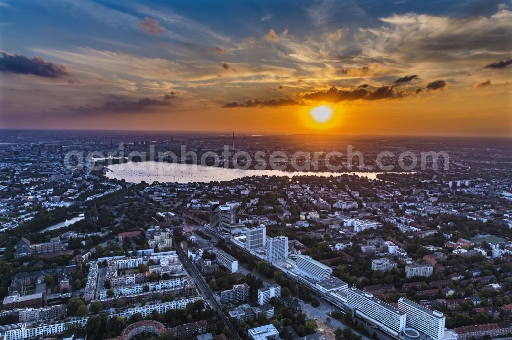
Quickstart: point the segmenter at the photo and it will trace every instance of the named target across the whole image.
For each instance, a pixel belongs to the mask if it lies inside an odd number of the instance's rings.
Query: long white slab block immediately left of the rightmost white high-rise
[[[346,293],[348,307],[359,318],[395,337],[406,328],[406,313],[357,288],[351,287]]]

